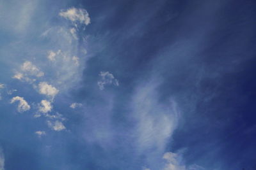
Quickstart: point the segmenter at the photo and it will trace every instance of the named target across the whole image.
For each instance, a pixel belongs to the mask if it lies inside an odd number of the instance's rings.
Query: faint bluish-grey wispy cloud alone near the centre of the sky
[[[119,86],[118,80],[115,79],[113,74],[109,73],[108,71],[100,71],[99,74],[101,80],[97,82],[99,89],[104,90],[105,85],[115,85]]]

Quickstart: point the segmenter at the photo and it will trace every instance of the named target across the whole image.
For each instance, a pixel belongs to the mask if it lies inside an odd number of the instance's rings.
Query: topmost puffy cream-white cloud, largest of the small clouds
[[[59,13],[61,17],[64,17],[72,22],[80,22],[81,24],[90,24],[90,17],[86,10],[80,8],[69,8],[68,10],[61,10]]]

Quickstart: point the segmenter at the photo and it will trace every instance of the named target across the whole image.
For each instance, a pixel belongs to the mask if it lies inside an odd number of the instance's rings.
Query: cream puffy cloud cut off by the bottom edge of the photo
[[[177,153],[166,152],[163,155],[163,159],[166,160],[164,170],[186,170],[186,167],[180,164],[180,158]]]

